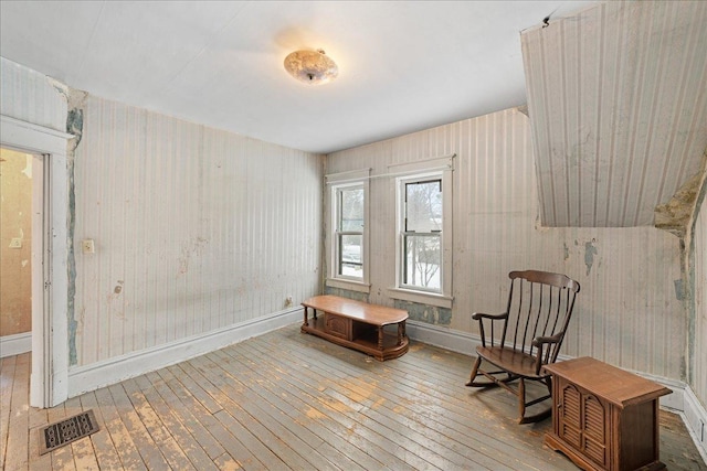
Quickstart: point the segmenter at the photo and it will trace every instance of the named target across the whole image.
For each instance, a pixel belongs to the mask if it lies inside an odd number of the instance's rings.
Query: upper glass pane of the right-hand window
[[[405,184],[407,227],[409,232],[442,231],[442,181]]]

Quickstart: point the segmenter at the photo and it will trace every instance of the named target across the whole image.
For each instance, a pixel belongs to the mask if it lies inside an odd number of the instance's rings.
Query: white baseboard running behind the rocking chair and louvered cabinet
[[[475,356],[476,346],[482,344],[478,335],[456,331],[424,322],[408,321],[408,336],[412,340],[430,345],[451,350],[452,352]],[[570,360],[571,356],[560,355],[560,360]],[[469,365],[471,368],[471,365]],[[690,387],[676,379],[654,376],[641,372],[632,372],[647,379],[654,381],[673,390],[673,394],[661,397],[661,407],[678,414],[695,441],[695,446],[707,463],[707,410],[700,404]],[[466,378],[463,378],[464,381]]]

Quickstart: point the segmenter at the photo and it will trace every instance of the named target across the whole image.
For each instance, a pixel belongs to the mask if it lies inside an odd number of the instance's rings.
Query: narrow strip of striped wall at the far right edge
[[[690,386],[704,407],[707,407],[707,207],[703,201],[695,221],[695,342],[694,374]]]

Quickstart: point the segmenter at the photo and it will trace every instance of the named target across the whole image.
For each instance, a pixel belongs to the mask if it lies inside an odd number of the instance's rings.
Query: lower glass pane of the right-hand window
[[[405,235],[404,283],[439,291],[441,285],[441,237]]]

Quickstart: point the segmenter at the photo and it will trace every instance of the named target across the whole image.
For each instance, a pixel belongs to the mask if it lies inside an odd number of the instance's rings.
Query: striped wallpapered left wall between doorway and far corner
[[[75,364],[315,295],[321,178],[320,156],[89,97],[72,208]]]

